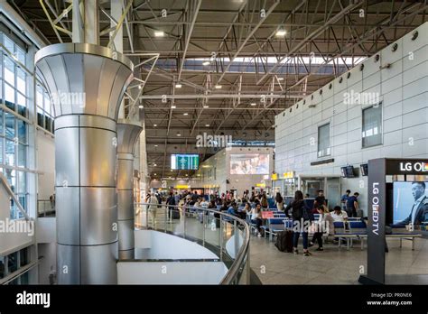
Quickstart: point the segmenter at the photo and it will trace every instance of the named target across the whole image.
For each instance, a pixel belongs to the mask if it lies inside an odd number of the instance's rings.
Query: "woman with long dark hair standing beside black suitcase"
[[[285,211],[292,208],[293,217],[293,254],[299,254],[297,245],[299,243],[299,236],[302,233],[303,237],[303,255],[309,256],[311,253],[308,250],[308,229],[313,220],[311,210],[305,208],[303,203],[303,193],[301,190],[296,190],[294,193],[293,202],[291,202]]]

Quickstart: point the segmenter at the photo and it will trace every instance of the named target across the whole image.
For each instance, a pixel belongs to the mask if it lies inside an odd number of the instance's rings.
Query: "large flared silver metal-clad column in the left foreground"
[[[105,47],[63,43],[38,51],[35,65],[55,114],[58,283],[114,284],[116,120],[133,64]]]

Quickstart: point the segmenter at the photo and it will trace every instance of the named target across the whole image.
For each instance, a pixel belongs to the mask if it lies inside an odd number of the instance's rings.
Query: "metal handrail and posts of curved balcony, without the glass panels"
[[[222,224],[221,224],[221,218],[222,217],[228,217],[231,219],[231,223],[233,224],[233,226],[235,227],[235,231],[237,230],[237,223],[241,224],[242,226],[244,226],[244,241],[243,244],[241,245],[241,247],[239,248],[238,252],[237,250],[235,250],[235,258],[233,263],[231,264],[230,268],[228,269],[228,273],[226,273],[226,275],[223,277],[223,279],[221,280],[220,284],[232,284],[235,280],[237,280],[237,275],[239,273],[239,269],[240,267],[244,264],[244,260],[247,257],[247,267],[248,267],[248,273],[247,273],[247,280],[249,282],[249,270],[250,270],[250,266],[249,266],[249,241],[250,241],[250,229],[249,226],[247,224],[247,222],[239,217],[235,217],[233,215],[229,215],[228,213],[223,213],[220,210],[215,210],[212,208],[199,208],[199,207],[195,207],[195,206],[180,206],[180,205],[168,205],[168,204],[151,204],[151,203],[135,203],[135,206],[145,206],[145,210],[146,213],[149,210],[149,207],[162,207],[165,208],[167,210],[169,210],[170,208],[173,208],[172,210],[180,210],[180,208],[192,208],[195,210],[202,210],[204,211],[204,215],[203,217],[205,217],[206,213],[213,213],[213,214],[218,214],[220,216],[220,230],[219,230],[219,234],[220,234],[220,254],[223,254],[223,232],[222,232]],[[186,236],[186,228],[185,228],[185,221],[186,221],[186,212],[184,211],[184,230],[183,230],[183,236]],[[205,218],[204,218],[205,219]],[[148,220],[146,220],[147,226],[148,226]],[[205,233],[205,224],[203,224],[204,228],[203,228],[203,232]],[[162,231],[162,230],[159,230]],[[165,225],[165,232],[166,232],[166,225]],[[235,233],[235,235],[237,235],[237,233]],[[203,234],[203,237],[205,237],[205,235]],[[203,240],[203,239],[202,239]],[[235,245],[237,245],[237,241],[238,239],[235,239]]]

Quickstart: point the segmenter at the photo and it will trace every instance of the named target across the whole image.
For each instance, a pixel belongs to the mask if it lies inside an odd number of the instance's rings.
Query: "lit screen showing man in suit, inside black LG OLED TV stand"
[[[421,225],[428,219],[428,182],[394,182],[393,222],[395,225]]]

